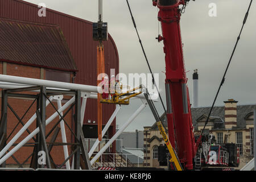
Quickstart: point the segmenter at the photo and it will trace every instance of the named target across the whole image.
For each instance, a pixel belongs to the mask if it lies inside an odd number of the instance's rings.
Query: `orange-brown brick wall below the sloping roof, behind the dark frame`
[[[0,62],[0,74],[2,74],[2,73],[3,73],[3,64]],[[24,77],[40,79],[40,68],[31,67],[31,66],[27,66],[27,65],[7,63],[6,73],[7,73],[7,75],[13,75],[13,76],[22,75]],[[44,76],[45,76],[45,72],[44,72]],[[33,99],[30,99],[30,98],[15,98],[15,97],[8,98],[8,104],[14,109],[15,113],[18,114],[20,118],[26,112],[28,107],[32,104],[32,101],[33,101]],[[63,100],[63,105],[65,102],[67,102],[67,101]],[[57,108],[57,104],[55,101],[53,101],[53,104]],[[0,102],[0,108],[1,108],[1,105],[2,105],[2,103]],[[27,112],[27,114],[24,116],[22,121],[24,123],[26,123],[26,121],[28,121],[28,119],[30,119],[32,117],[32,115],[35,114],[35,111],[36,111],[36,103]],[[55,113],[55,110],[53,109],[53,107],[50,105],[47,106],[47,109],[46,109],[47,118],[49,116],[51,116],[53,113]],[[63,113],[65,113],[65,111]],[[15,117],[15,115],[11,112],[11,110],[9,108],[7,110],[7,118],[8,118],[7,119],[7,137],[8,137],[11,134],[11,132],[13,131],[14,127],[17,125],[18,119]],[[69,112],[65,117],[65,121],[68,123],[68,125],[70,127],[72,127],[71,118],[72,118],[72,114],[71,114],[71,112]],[[49,125],[46,126],[47,134],[58,120],[59,120],[59,117],[56,117],[51,123],[49,123]],[[9,140],[7,140],[7,142],[9,142],[10,139],[13,138],[14,135],[21,128],[22,128],[22,124],[19,123],[19,125],[14,130],[13,134],[10,135],[10,138],[9,138]],[[65,128],[66,128],[67,142],[71,143],[72,142],[72,137],[71,137],[72,133],[67,127],[65,127]],[[30,132],[32,132],[35,129],[36,129],[36,122],[33,122],[32,125],[30,127],[28,127],[28,130]],[[27,131],[25,131],[15,143],[21,142],[24,138],[27,137],[27,135],[28,135],[28,133],[27,133]],[[47,140],[49,140],[51,137],[52,137],[52,134],[49,135],[49,138]],[[34,142],[34,140],[30,139],[27,142],[27,144],[29,145],[30,143],[33,143],[33,142]],[[60,133],[56,138],[56,142],[62,142]],[[9,149],[9,151],[13,148],[14,148],[14,146],[11,147]],[[17,159],[19,163],[24,162],[28,158],[28,156],[30,156],[31,153],[33,152],[33,148],[34,147],[28,147],[28,146],[24,146],[24,147],[20,148],[17,152],[15,152],[14,158]],[[68,151],[69,151],[69,154],[71,154],[71,152],[72,152],[71,146],[68,146]],[[56,164],[63,163],[63,161],[64,161],[63,146],[54,146],[51,151],[51,156],[54,159],[54,162]],[[30,164],[30,161],[31,161],[31,158],[24,164]],[[16,162],[13,158],[9,158],[6,161],[6,164],[16,164]],[[14,166],[14,167],[16,167],[16,166]]]

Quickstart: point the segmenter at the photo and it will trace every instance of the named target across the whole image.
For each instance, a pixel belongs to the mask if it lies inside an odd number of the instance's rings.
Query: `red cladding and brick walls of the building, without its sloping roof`
[[[75,77],[75,83],[77,84],[85,84],[85,85],[97,85],[97,52],[96,52],[96,46],[97,43],[93,41],[92,39],[92,22],[88,22],[86,20],[76,18],[67,14],[59,13],[54,10],[47,9],[46,17],[39,17],[38,16],[38,6],[33,5],[32,3],[20,1],[20,0],[1,0],[0,1],[0,18],[7,18],[7,19],[16,19],[16,20],[22,20],[24,22],[36,22],[36,23],[47,23],[47,24],[55,24],[61,28],[63,31],[63,35],[68,43],[68,47],[71,50],[73,59],[75,60],[75,63],[77,65],[77,75]],[[117,47],[115,46],[114,40],[109,35],[109,40],[107,42],[104,42],[105,47],[105,71],[110,76],[110,69],[115,69],[115,74],[119,73],[119,57],[118,57],[118,51]],[[5,60],[2,60],[5,61]],[[17,60],[18,61],[18,60]],[[17,68],[17,69],[16,69]],[[3,66],[0,60],[0,74],[2,74]],[[40,68],[36,67],[30,67],[26,65],[17,65],[17,64],[11,64],[7,63],[7,75],[14,75],[14,76],[22,76],[22,77],[31,77],[31,78],[40,78]],[[71,74],[72,76],[73,74]],[[46,71],[44,70],[44,78],[46,78]],[[29,106],[28,104],[32,101],[29,100],[18,100],[16,98],[10,98],[9,104],[14,107],[14,110],[18,112],[19,115],[22,115],[24,113],[25,104],[26,106]],[[1,106],[1,102],[0,102]],[[56,106],[56,103],[55,103]],[[106,124],[110,116],[112,115],[113,111],[115,109],[114,105],[104,105],[103,106],[103,125]],[[49,112],[51,110],[47,109],[47,117],[49,117]],[[52,110],[53,112],[53,110]],[[9,121],[8,121],[8,132],[13,129],[16,122],[15,117],[13,114],[11,114],[10,110],[8,111],[10,113]],[[24,118],[24,122],[27,121],[28,118],[31,117],[31,114],[29,113],[26,118]],[[71,114],[67,115],[67,118],[71,118]],[[53,123],[55,123],[58,120],[56,118],[47,128],[51,128],[53,126]],[[90,121],[96,121],[96,123],[89,123]],[[71,122],[71,119],[68,119],[68,123]],[[71,124],[71,123],[69,123]],[[85,125],[97,125],[97,100],[88,99],[87,105],[86,105],[86,112],[85,112],[85,119],[84,119]],[[18,127],[20,129],[21,126]],[[17,130],[18,130],[17,129]],[[35,129],[35,126],[31,126],[30,131],[33,131]],[[47,131],[48,131],[47,129]],[[17,131],[16,130],[16,131]],[[15,132],[16,133],[16,132]],[[112,123],[112,126],[109,129],[109,137],[112,137],[115,133],[115,121]],[[14,135],[12,135],[13,137]],[[22,135],[23,139],[27,136],[27,133],[24,133]],[[72,139],[70,138],[71,132],[67,130],[67,137],[68,142],[72,142]],[[12,138],[11,137],[11,138]],[[17,141],[19,142],[19,141]],[[33,142],[33,140],[30,140],[30,142]],[[56,139],[56,142],[61,142],[60,135]],[[11,147],[13,148],[13,147]],[[16,159],[21,161],[24,161],[28,155],[32,152],[31,147],[22,147],[20,148],[19,152],[16,153],[14,156]],[[69,148],[69,153],[70,153]],[[115,144],[112,146],[112,152],[115,152]],[[58,156],[58,158],[55,158],[56,164],[60,164],[64,161],[64,156],[60,155],[63,154],[63,147],[62,146],[56,146],[52,150],[52,156]],[[21,155],[22,154],[22,155]],[[28,154],[28,155],[24,155]],[[14,160],[10,158],[7,160],[8,164],[14,164]]]

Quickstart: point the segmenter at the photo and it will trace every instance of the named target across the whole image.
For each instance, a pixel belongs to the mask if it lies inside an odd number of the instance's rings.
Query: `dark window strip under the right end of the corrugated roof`
[[[46,69],[46,80],[70,82],[71,74],[69,72],[55,71]]]

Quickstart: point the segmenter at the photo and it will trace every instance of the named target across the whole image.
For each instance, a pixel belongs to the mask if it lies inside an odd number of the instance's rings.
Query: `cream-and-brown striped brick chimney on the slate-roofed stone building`
[[[237,127],[237,102],[238,101],[235,101],[233,99],[224,101],[226,129],[232,129],[232,127]]]

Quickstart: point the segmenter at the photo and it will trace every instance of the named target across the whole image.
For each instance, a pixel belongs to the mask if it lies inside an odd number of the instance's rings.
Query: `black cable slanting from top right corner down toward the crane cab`
[[[202,132],[201,132],[201,135],[203,135],[204,130],[205,130],[205,127],[207,126],[207,123],[209,122],[210,114],[212,114],[212,110],[213,110],[214,104],[215,104],[215,102],[216,102],[216,99],[217,99],[217,97],[218,97],[218,93],[220,92],[221,86],[224,84],[226,73],[228,72],[229,65],[230,65],[231,60],[232,60],[232,58],[233,58],[234,52],[236,51],[237,44],[238,44],[238,42],[239,42],[239,40],[240,40],[240,36],[241,36],[241,34],[242,34],[242,30],[243,30],[243,26],[245,26],[245,23],[246,23],[247,17],[248,17],[248,15],[249,15],[249,11],[250,11],[250,7],[251,7],[251,3],[252,3],[252,2],[253,2],[253,0],[251,0],[250,5],[249,5],[249,7],[248,7],[248,10],[247,10],[247,12],[246,12],[246,14],[245,14],[245,18],[243,19],[243,25],[242,25],[242,28],[241,28],[240,34],[239,34],[239,35],[238,35],[238,37],[237,37],[236,45],[234,46],[234,49],[233,49],[232,55],[231,55],[231,57],[230,57],[230,59],[229,59],[229,63],[228,63],[228,65],[227,65],[227,67],[226,67],[226,70],[225,70],[224,76],[222,77],[221,84],[220,84],[220,86],[219,86],[219,88],[218,88],[218,91],[217,91],[217,94],[216,94],[216,96],[215,96],[215,98],[214,98],[214,101],[213,101],[212,107],[210,108],[210,112],[209,112],[209,114],[208,114],[207,121],[205,122],[205,125],[204,125],[204,128],[203,128]]]

